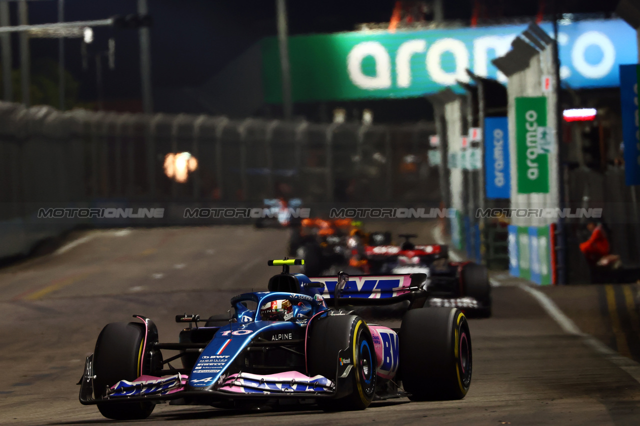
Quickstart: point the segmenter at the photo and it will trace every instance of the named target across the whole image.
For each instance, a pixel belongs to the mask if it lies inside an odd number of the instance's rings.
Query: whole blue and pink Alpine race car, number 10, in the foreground
[[[283,271],[267,292],[231,299],[229,317],[189,323],[178,343],[161,343],[152,320],[102,329],[86,359],[80,402],[107,418],[147,418],[155,404],[255,407],[298,400],[326,410],[364,409],[372,400],[460,399],[471,381],[465,315],[422,308],[424,274],[323,277],[290,274],[301,260],[273,260]],[[321,294],[332,292],[329,308]],[[340,308],[410,301],[399,329]],[[204,325],[198,323],[204,322]],[[218,324],[218,325],[216,325]],[[177,351],[166,356],[163,352]],[[171,363],[182,362],[182,367]]]

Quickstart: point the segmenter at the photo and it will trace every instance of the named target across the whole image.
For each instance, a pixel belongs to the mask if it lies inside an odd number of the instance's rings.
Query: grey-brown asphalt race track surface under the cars
[[[266,260],[284,255],[286,239],[251,226],[93,230],[70,235],[57,253],[3,267],[0,423],[111,424],[77,399],[100,329],[137,313],[154,319],[161,341],[176,341],[175,314],[225,313],[230,297],[266,288],[278,272]],[[127,424],[640,424],[640,383],[627,372],[566,334],[522,288],[494,288],[493,304],[491,319],[470,320],[474,372],[463,400],[402,398],[348,413],[164,404]]]

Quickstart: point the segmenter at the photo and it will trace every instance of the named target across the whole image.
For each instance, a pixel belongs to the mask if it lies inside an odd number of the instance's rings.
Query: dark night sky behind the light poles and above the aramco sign
[[[231,59],[264,36],[276,34],[275,0],[149,0],[154,19],[152,28],[152,67],[154,86],[198,86],[216,74]],[[393,0],[302,1],[289,0],[289,27],[292,35],[350,31],[361,22],[387,22]],[[538,0],[480,1],[488,17],[525,16],[538,12]],[[551,4],[547,0],[547,4]],[[564,0],[564,12],[611,12],[616,1]],[[15,24],[15,4],[13,21]],[[474,0],[445,0],[446,19],[470,19]],[[103,19],[111,15],[136,12],[135,0],[65,0],[66,20]],[[31,23],[56,22],[57,1],[29,3]],[[99,28],[90,54],[106,50],[109,36],[116,40],[116,70],[104,61],[107,99],[140,97],[137,31]],[[89,69],[81,67],[80,40],[67,40],[67,69],[81,82],[81,97],[95,99],[95,61]],[[14,40],[14,67],[17,67],[17,37]],[[35,39],[32,58],[58,58],[57,40]]]

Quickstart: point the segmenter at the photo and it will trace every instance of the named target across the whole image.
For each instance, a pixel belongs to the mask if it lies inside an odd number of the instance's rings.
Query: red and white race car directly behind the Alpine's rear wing
[[[451,262],[447,246],[417,246],[410,241],[417,235],[399,237],[405,240],[400,246],[364,244],[353,253],[359,261],[349,264],[359,264],[359,269],[369,274],[427,274],[429,305],[460,308],[478,317],[491,316],[491,286],[484,265]]]

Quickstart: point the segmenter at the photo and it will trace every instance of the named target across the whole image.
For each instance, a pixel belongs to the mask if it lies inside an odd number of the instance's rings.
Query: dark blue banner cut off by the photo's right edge
[[[625,147],[625,183],[640,185],[640,139],[638,138],[638,66],[620,65],[622,140]]]

